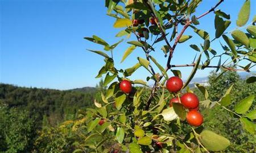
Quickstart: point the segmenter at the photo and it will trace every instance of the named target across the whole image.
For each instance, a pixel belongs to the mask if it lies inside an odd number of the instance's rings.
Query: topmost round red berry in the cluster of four
[[[179,77],[170,77],[166,82],[166,88],[169,92],[179,92],[183,86],[183,81]]]

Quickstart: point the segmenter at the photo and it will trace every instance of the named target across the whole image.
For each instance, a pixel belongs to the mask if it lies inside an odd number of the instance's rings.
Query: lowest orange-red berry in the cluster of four
[[[203,116],[197,110],[190,110],[187,114],[187,121],[189,125],[200,126],[203,123]]]

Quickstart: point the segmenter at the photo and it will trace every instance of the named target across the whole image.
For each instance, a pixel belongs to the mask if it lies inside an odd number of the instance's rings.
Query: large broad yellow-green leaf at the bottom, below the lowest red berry
[[[230,145],[228,139],[208,130],[204,130],[200,134],[200,140],[203,143],[204,147],[210,151],[225,150],[225,148]]]

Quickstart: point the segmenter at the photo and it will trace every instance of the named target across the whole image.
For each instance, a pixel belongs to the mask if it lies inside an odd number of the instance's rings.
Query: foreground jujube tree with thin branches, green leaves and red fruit
[[[204,129],[203,115],[200,114],[200,107],[211,109],[216,105],[221,106],[222,111],[230,113],[230,117],[237,118],[237,122],[241,122],[249,133],[255,133],[256,113],[255,110],[249,112],[254,95],[236,102],[234,110],[230,110],[227,106],[232,103],[229,94],[232,86],[220,100],[210,101],[207,89],[196,84],[205,98],[200,102],[188,87],[197,69],[221,69],[221,74],[226,71],[251,73],[250,69],[255,66],[256,17],[245,26],[250,16],[250,1],[245,1],[238,10],[237,28],[231,32],[226,31],[231,24],[230,15],[217,9],[224,0],[211,2],[213,6],[209,10],[195,16],[200,0],[105,1],[108,15],[116,19],[114,27],[121,28],[116,36],[125,36],[130,44],[130,47],[123,50],[122,61],[129,58],[137,48],[142,49],[144,57],[137,57],[138,62],[131,68],[117,69],[115,64],[119,61],[114,60],[113,51],[123,39],[110,45],[96,35],[85,38],[104,47],[105,51],[88,51],[104,57],[105,64],[98,72],[97,78],[104,77],[104,85],[108,86],[108,89],[105,93],[102,92],[102,101],[94,101],[96,109],[80,110],[78,123],[73,126],[73,130],[86,129],[86,135],[79,144],[80,148],[74,152],[225,150],[230,144],[229,140]],[[207,18],[210,13],[215,14],[212,23],[215,27],[214,36],[197,28],[200,19]],[[192,57],[192,63],[174,65],[172,58],[175,58],[173,53],[177,51],[176,46],[193,39],[193,35],[186,35],[188,28],[202,38],[198,44],[189,45],[191,50],[197,52],[197,57]],[[220,41],[220,51],[210,47],[214,41]],[[164,45],[162,48],[156,48],[157,43]],[[159,59],[151,56],[151,52],[163,55],[166,60],[165,68],[158,63]],[[227,60],[223,62],[221,59],[224,58]],[[215,59],[219,61],[213,65],[212,60]],[[181,80],[180,67],[192,67],[192,72],[184,83]],[[130,80],[130,76],[139,71],[139,68],[147,70],[146,80]],[[154,81],[154,85],[148,86],[148,81]],[[247,79],[247,83],[251,82],[255,82],[255,76]]]

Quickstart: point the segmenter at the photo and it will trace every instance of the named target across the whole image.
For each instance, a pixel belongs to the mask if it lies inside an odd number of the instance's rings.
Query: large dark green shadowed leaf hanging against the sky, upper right
[[[214,25],[215,25],[215,37],[220,38],[220,36],[223,34],[223,32],[226,30],[226,28],[230,25],[230,20],[223,20],[218,15],[215,15]]]

